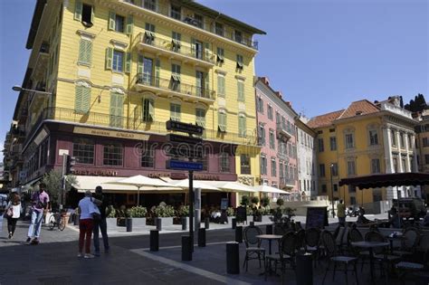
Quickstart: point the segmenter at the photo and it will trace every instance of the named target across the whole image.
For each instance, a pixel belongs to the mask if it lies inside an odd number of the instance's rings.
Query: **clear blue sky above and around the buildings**
[[[267,32],[257,36],[256,73],[268,76],[308,117],[353,100],[402,95],[407,102],[417,93],[429,98],[426,0],[197,2]],[[0,141],[18,95],[11,87],[24,79],[34,5],[35,0],[0,1]]]

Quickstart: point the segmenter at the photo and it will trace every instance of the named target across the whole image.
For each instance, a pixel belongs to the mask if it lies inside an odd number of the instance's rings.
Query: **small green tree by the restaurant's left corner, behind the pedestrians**
[[[58,208],[61,203],[62,173],[58,170],[51,170],[44,174],[42,182],[46,184],[46,192],[49,194],[52,209]],[[72,186],[78,185],[76,176],[66,176],[65,193],[71,190]]]

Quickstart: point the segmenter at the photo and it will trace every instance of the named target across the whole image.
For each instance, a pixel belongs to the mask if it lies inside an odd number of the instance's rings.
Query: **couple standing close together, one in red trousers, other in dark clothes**
[[[106,208],[108,211],[106,212]],[[95,194],[85,192],[85,197],[79,202],[79,253],[78,257],[94,258],[100,256],[101,232],[104,244],[104,252],[110,252],[109,238],[107,235],[106,217],[110,214],[110,207],[103,197],[101,186],[95,188]],[[94,255],[91,254],[91,234],[94,233]],[[85,253],[83,254],[83,246]]]

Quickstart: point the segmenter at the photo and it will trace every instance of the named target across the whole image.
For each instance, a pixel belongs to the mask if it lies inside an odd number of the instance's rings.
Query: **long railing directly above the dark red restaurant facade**
[[[137,116],[130,116],[128,118],[91,111],[87,113],[81,113],[76,111],[75,109],[52,107],[43,109],[36,123],[33,125],[31,131],[28,133],[27,138],[31,138],[33,136],[38,126],[45,119],[54,119],[71,123],[81,123],[87,126],[122,128],[124,130],[139,130],[154,134],[170,133],[170,131],[168,131],[166,128],[166,122],[144,121],[143,119],[141,119],[141,114],[138,114]],[[253,134],[254,131],[249,130],[247,133]],[[220,132],[217,128],[205,128],[202,138],[250,147],[258,146],[257,138],[253,135],[246,135],[245,137],[240,137],[237,133]]]

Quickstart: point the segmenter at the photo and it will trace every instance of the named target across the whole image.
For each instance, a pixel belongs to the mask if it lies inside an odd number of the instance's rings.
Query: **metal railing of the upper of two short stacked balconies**
[[[206,51],[197,52],[196,50],[191,49],[188,46],[182,45],[181,42],[177,41],[176,44],[173,43],[173,39],[164,40],[164,39],[159,39],[157,37],[151,39],[151,37],[148,37],[146,33],[140,33],[139,38],[140,38],[139,43],[148,44],[150,46],[157,47],[167,52],[175,52],[179,55],[183,55],[183,56],[194,58],[196,60],[215,64],[215,59],[214,59],[215,57],[212,54],[212,52],[206,52]]]

